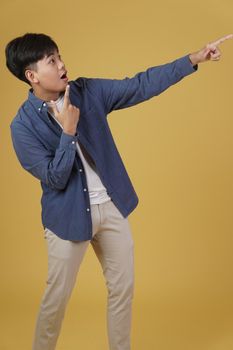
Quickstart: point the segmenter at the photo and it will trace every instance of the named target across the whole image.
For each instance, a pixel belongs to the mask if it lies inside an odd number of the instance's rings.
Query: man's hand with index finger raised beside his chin
[[[79,108],[73,106],[70,103],[69,90],[70,90],[70,86],[67,85],[65,95],[64,95],[64,104],[63,104],[61,112],[58,111],[57,106],[56,106],[54,101],[51,101],[53,103],[51,108],[53,110],[55,118],[63,126],[63,131],[66,134],[75,135],[76,129],[77,129],[77,124],[79,121],[80,110],[79,110]]]

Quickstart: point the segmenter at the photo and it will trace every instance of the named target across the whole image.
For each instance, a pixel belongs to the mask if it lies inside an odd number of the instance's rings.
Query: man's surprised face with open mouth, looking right
[[[68,84],[67,70],[57,50],[36,62],[35,86],[41,92],[64,91]]]

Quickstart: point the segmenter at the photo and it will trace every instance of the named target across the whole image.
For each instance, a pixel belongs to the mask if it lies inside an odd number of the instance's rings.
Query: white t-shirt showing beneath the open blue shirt
[[[59,112],[62,109],[63,102],[64,102],[64,94],[62,94],[55,101],[55,104]],[[46,102],[46,103],[49,107],[48,111],[51,114],[51,116],[56,120],[56,122],[60,125],[60,127],[63,128],[61,123],[54,116],[54,113],[51,109],[51,102]],[[77,146],[77,152],[81,158],[81,161],[85,170],[85,174],[86,174],[90,204],[100,204],[111,200],[111,198],[107,194],[106,187],[103,185],[99,175],[97,174],[97,169],[94,161],[89,156],[85,148],[81,145],[81,143],[79,144],[77,141],[76,146]]]

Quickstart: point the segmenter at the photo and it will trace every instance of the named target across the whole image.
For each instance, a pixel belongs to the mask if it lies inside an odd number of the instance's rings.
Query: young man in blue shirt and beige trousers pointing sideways
[[[133,240],[128,215],[138,197],[112,138],[107,115],[159,95],[220,58],[218,45],[132,78],[79,77],[69,81],[57,44],[27,33],[6,46],[6,64],[28,83],[28,99],[11,123],[22,167],[41,181],[48,278],[33,350],[56,347],[67,302],[91,243],[108,288],[109,349],[129,350],[134,287]]]

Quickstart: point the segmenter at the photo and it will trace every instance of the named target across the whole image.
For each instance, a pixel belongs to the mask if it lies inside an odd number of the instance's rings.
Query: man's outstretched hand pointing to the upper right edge
[[[232,39],[233,34],[228,34],[216,41],[208,43],[200,51],[194,52],[189,55],[190,61],[193,66],[206,61],[218,61],[221,56],[221,51],[218,48],[218,45],[224,42],[227,39]]]

